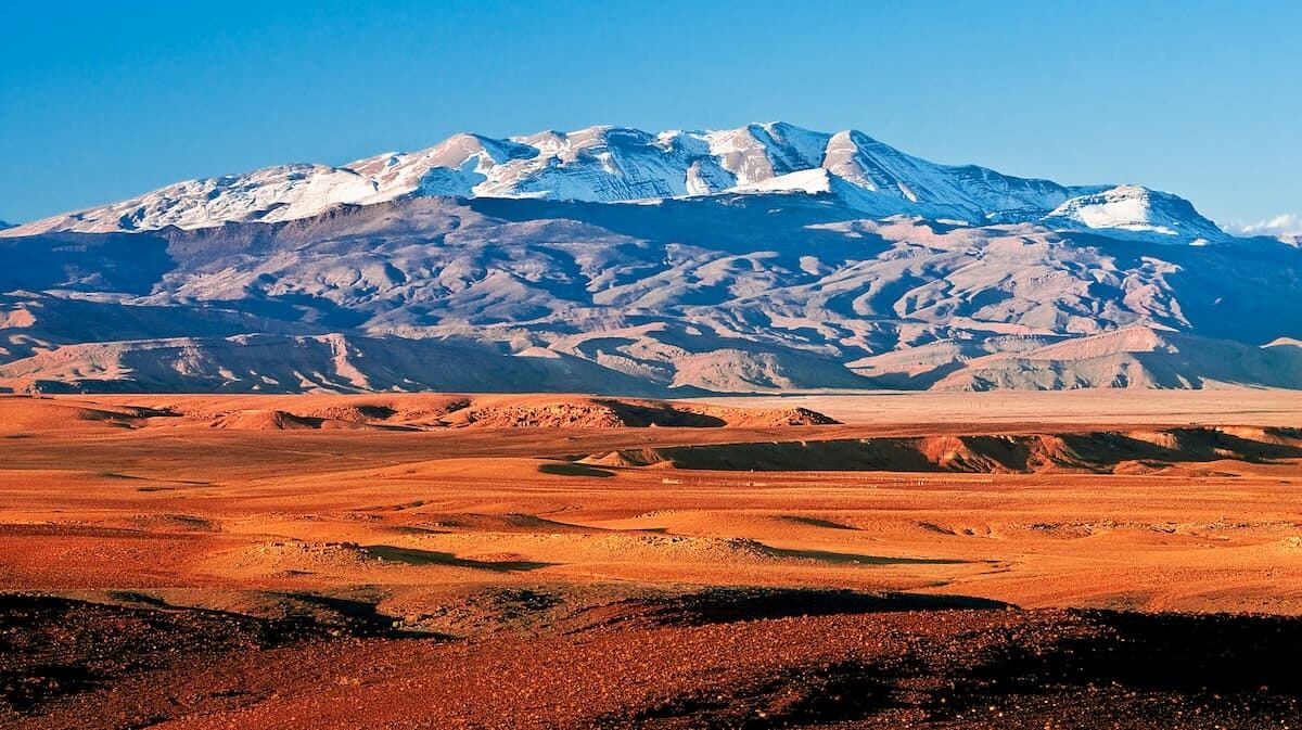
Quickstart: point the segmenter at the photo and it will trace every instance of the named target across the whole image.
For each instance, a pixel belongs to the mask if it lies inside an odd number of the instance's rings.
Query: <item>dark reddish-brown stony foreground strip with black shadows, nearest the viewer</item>
[[[512,591],[509,629],[0,599],[3,727],[1295,727],[1302,619],[958,597]],[[557,608],[561,610],[557,612]],[[534,615],[534,621],[529,617]],[[521,619],[523,618],[523,619]]]

